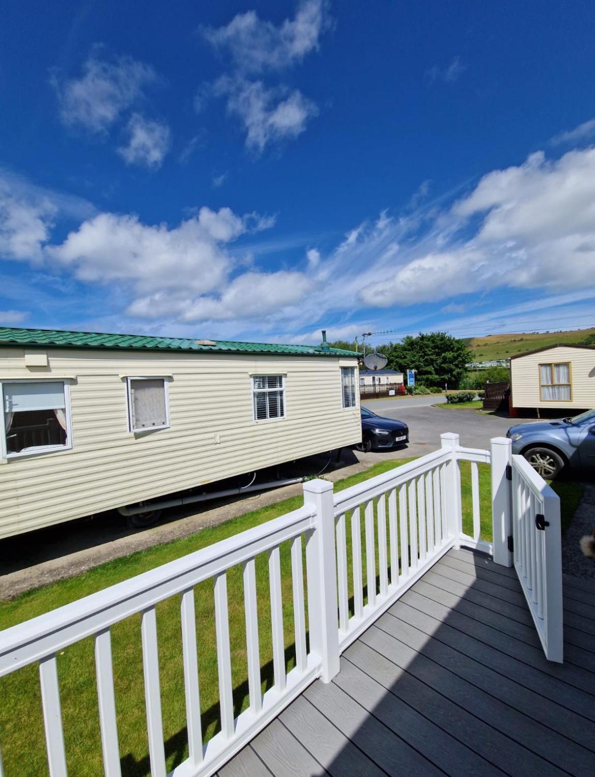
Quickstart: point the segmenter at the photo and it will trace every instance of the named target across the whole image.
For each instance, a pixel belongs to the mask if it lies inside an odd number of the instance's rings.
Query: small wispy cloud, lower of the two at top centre
[[[268,143],[296,138],[318,113],[317,106],[299,89],[268,89],[261,81],[222,76],[214,91],[218,96],[227,96],[228,113],[240,117],[244,124],[247,148],[258,152]]]

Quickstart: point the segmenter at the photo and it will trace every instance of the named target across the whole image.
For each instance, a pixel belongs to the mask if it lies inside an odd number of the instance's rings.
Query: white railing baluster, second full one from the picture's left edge
[[[118,726],[116,723],[116,693],[113,685],[112,637],[109,629],[95,635],[95,673],[97,674],[103,771],[106,777],[121,777]],[[0,772],[1,774],[2,772]]]

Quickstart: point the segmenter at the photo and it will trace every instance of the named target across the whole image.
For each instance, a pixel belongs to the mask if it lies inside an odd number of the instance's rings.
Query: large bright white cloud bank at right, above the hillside
[[[462,241],[457,234],[470,218],[479,225]],[[554,161],[537,152],[520,166],[489,172],[437,225],[393,274],[363,287],[361,301],[389,307],[498,287],[593,287],[595,148]]]

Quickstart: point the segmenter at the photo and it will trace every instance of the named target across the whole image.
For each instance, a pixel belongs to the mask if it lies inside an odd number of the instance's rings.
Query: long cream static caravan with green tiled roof
[[[0,327],[0,538],[361,441],[357,354]]]

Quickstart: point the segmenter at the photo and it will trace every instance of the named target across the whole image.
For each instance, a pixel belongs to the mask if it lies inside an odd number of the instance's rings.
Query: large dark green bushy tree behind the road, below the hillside
[[[402,372],[417,370],[417,383],[441,389],[445,384],[449,389],[458,388],[467,374],[465,365],[472,361],[467,344],[445,332],[407,336],[402,343],[389,343],[379,350],[388,357],[389,368]]]

